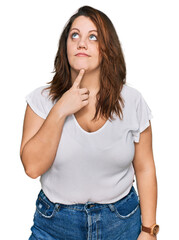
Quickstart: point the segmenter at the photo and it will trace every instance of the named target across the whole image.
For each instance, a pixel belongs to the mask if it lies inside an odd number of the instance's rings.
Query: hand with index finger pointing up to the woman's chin
[[[85,70],[81,69],[72,87],[57,102],[59,105],[58,109],[64,116],[71,115],[88,104],[89,90],[80,88],[84,73]]]

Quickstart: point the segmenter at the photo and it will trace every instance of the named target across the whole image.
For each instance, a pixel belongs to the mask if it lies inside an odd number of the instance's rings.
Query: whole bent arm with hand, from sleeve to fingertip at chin
[[[80,88],[84,72],[80,70],[73,86],[56,102],[45,120],[27,105],[20,157],[28,176],[37,178],[51,167],[66,117],[88,104],[89,91]]]

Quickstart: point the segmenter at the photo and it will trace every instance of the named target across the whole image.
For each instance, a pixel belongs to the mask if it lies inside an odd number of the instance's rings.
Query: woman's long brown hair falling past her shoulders
[[[103,12],[90,6],[79,8],[66,23],[54,61],[53,73],[55,75],[52,81],[48,82],[50,86],[45,89],[50,89],[49,95],[54,102],[59,100],[72,87],[70,65],[67,58],[67,38],[73,21],[79,16],[89,17],[95,24],[98,31],[99,51],[102,57],[100,90],[96,95],[98,101],[93,120],[97,118],[98,114],[107,119],[114,119],[113,112],[122,119],[124,100],[120,92],[123,84],[126,83],[126,65],[121,44],[111,20]]]

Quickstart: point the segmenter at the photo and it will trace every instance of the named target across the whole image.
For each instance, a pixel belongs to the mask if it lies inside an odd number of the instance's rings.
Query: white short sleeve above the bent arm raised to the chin
[[[46,97],[42,93],[43,88],[44,87],[42,86],[31,91],[28,95],[25,96],[25,100],[38,116],[46,119]]]

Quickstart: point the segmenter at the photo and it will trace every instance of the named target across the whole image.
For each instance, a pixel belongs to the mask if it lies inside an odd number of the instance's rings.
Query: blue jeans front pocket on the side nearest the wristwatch
[[[131,217],[138,208],[140,208],[139,198],[135,191],[130,192],[118,204],[114,205],[115,213],[121,219]]]

